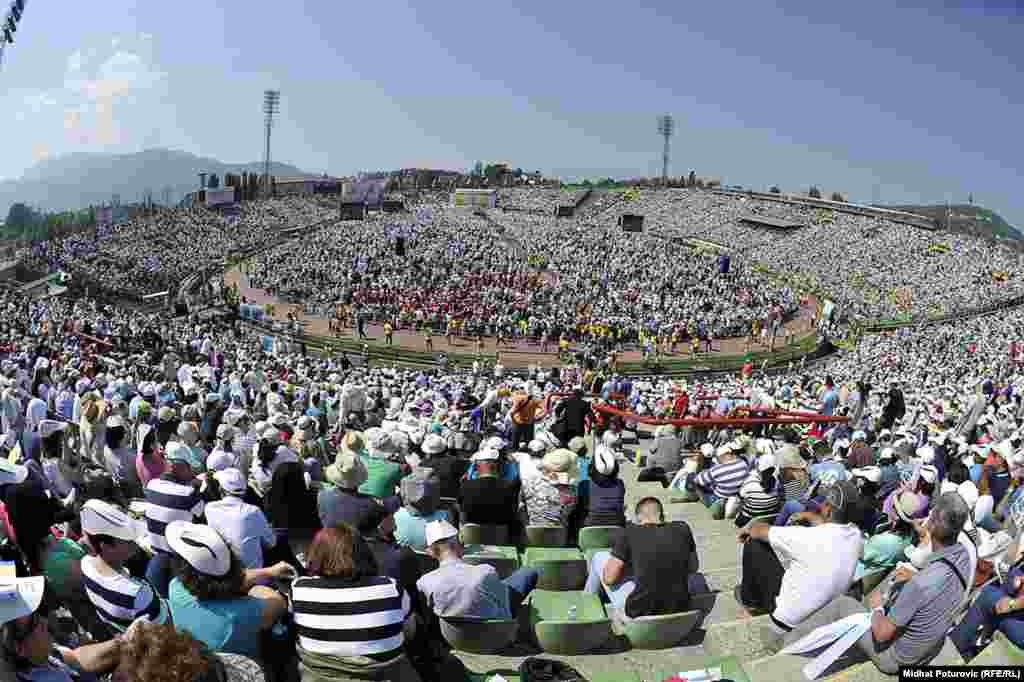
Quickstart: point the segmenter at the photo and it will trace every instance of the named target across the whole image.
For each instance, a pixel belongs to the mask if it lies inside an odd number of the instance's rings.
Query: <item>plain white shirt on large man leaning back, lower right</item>
[[[791,628],[850,589],[864,546],[852,523],[772,526],[768,542],[785,569],[773,615]]]

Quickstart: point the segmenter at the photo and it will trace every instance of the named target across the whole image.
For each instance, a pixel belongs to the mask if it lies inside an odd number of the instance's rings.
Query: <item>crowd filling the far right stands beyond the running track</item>
[[[850,319],[948,314],[1024,292],[1019,252],[886,218],[739,194],[658,189],[643,190],[629,201],[609,196],[603,210],[585,221],[613,224],[624,213],[643,215],[648,230],[722,245],[746,266],[760,263],[799,276],[805,286],[826,292]],[[804,226],[773,229],[740,222],[752,215]]]

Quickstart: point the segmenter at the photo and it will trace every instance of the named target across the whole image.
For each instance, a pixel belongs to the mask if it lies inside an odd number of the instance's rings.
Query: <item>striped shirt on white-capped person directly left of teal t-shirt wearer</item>
[[[167,604],[148,583],[120,571],[101,573],[100,565],[102,562],[97,557],[82,558],[85,594],[103,623],[118,632],[124,632],[136,619],[167,623]]]

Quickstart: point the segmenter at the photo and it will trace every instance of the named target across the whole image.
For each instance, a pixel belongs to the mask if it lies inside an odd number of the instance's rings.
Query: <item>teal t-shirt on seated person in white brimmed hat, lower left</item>
[[[211,651],[259,657],[263,602],[255,597],[239,597],[201,602],[181,581],[171,581],[168,593],[174,627],[184,630],[210,647]]]

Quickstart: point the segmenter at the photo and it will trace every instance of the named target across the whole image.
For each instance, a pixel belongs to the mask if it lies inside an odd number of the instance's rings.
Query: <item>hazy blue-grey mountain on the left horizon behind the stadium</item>
[[[0,219],[11,204],[24,202],[47,211],[109,204],[113,195],[122,204],[139,201],[148,189],[163,203],[164,188],[171,188],[173,203],[199,186],[199,173],[262,173],[263,164],[228,164],[172,150],[146,150],[137,154],[69,154],[46,159],[28,169],[20,179],[0,182]],[[276,176],[310,176],[295,166],[271,163]]]

